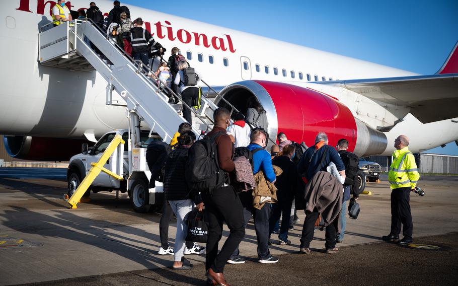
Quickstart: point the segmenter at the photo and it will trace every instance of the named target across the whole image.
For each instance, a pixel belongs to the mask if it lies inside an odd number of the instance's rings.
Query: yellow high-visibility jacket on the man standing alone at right
[[[420,178],[412,152],[407,147],[393,153],[393,163],[388,173],[391,189],[414,188]]]

